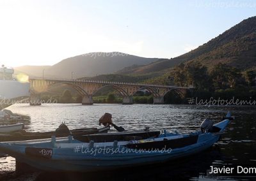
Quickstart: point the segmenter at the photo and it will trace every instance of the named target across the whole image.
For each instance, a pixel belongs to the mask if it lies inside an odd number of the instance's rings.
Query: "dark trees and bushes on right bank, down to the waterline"
[[[255,71],[242,72],[240,69],[217,64],[209,71],[198,62],[180,64],[170,73],[173,82],[180,86],[194,85],[195,89],[186,95],[170,93],[166,95],[166,103],[188,103],[187,98],[198,99],[256,99]]]

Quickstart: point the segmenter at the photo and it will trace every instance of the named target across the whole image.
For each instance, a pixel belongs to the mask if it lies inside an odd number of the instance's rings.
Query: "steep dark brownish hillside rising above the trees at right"
[[[146,66],[129,67],[120,74],[166,73],[181,62],[196,61],[209,69],[219,62],[239,69],[256,69],[256,17],[243,20],[204,45],[173,59],[156,61]]]

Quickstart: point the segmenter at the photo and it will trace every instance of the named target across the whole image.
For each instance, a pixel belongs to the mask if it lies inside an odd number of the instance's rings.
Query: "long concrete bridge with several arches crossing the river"
[[[53,85],[68,85],[73,87],[83,98],[83,105],[93,105],[93,95],[103,89],[111,86],[123,97],[123,104],[132,104],[132,96],[140,90],[147,90],[154,96],[154,104],[163,104],[164,95],[169,91],[178,91],[180,94],[186,92],[186,89],[192,87],[179,87],[175,85],[154,85],[146,83],[127,83],[127,82],[107,82],[100,80],[71,80],[57,78],[29,78],[31,105],[40,105],[40,93],[47,91]]]

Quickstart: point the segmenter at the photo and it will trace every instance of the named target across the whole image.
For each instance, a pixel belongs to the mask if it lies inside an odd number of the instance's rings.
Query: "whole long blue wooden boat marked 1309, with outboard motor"
[[[0,151],[16,161],[46,171],[99,171],[163,163],[211,147],[232,120],[230,113],[219,123],[204,120],[201,130],[190,134],[163,133],[144,140],[83,142],[72,136],[45,140],[1,142]]]

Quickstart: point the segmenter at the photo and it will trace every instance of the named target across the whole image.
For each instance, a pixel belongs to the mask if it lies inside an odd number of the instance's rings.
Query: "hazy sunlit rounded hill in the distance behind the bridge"
[[[42,76],[44,68],[45,77],[55,78],[71,78],[73,72],[73,78],[80,78],[114,73],[127,66],[145,65],[158,60],[120,52],[93,52],[64,59],[53,66],[22,66],[15,69],[31,76]]]

